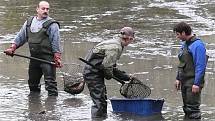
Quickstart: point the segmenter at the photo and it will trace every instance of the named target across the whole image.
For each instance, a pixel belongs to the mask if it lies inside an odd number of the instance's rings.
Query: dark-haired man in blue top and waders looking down
[[[191,27],[184,22],[177,24],[173,31],[183,41],[178,55],[180,63],[175,87],[181,89],[185,118],[201,119],[201,90],[207,65],[205,45],[191,34]]]

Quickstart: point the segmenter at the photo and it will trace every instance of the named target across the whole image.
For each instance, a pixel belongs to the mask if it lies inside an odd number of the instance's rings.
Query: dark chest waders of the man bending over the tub
[[[102,64],[104,55],[93,53],[92,50],[90,50],[85,59],[90,63],[99,66]],[[107,91],[103,72],[86,65],[84,67],[83,75],[93,101],[93,105],[91,107],[91,117],[106,117]]]

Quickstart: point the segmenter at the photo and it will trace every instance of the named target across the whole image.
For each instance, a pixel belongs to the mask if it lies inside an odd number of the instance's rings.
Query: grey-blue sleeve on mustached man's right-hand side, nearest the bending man
[[[49,40],[51,41],[52,52],[53,53],[61,53],[62,48],[60,44],[60,31],[59,25],[57,23],[53,23],[48,28],[47,34],[49,35]]]

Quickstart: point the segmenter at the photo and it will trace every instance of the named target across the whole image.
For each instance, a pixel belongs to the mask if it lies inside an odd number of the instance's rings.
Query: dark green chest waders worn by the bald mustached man
[[[29,44],[29,50],[32,57],[53,61],[54,53],[52,52],[51,42],[47,35],[47,29],[52,23],[57,23],[50,19],[43,23],[42,28],[38,32],[31,32],[30,27],[33,17],[27,20],[26,34]],[[48,96],[57,96],[56,67],[51,64],[30,60],[29,64],[29,88],[30,92],[40,92],[40,79],[44,76],[45,89]]]

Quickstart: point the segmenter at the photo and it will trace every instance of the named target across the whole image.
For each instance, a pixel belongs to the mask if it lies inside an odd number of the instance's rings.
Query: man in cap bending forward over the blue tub
[[[116,68],[123,48],[134,41],[134,31],[131,27],[124,27],[120,30],[119,39],[107,40],[97,44],[89,51],[85,59],[91,64],[103,69],[99,71],[90,65],[84,67],[84,80],[90,91],[94,105],[91,107],[92,118],[104,118],[107,116],[107,92],[104,78],[110,80],[113,76],[128,81],[124,71]]]

